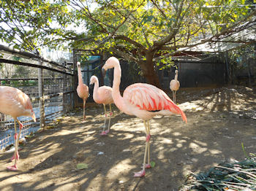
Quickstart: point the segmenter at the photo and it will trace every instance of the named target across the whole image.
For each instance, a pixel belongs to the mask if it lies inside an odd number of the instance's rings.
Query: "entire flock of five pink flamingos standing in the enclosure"
[[[89,97],[89,87],[83,84],[82,73],[80,69],[80,63],[78,66],[78,96],[83,99],[83,119],[86,119],[85,115],[85,105],[86,99]],[[167,94],[160,90],[154,85],[148,85],[146,83],[135,83],[129,85],[121,96],[119,85],[121,82],[121,66],[117,58],[110,57],[102,66],[102,74],[108,69],[114,69],[113,87],[102,86],[99,87],[99,81],[97,77],[92,76],[90,84],[94,84],[93,98],[97,104],[110,105],[110,119],[112,115],[111,104],[116,104],[118,109],[120,109],[125,114],[135,115],[143,120],[146,131],[146,147],[143,159],[143,169],[142,171],[136,172],[135,177],[142,177],[145,175],[146,168],[151,168],[150,157],[149,157],[149,140],[150,140],[150,126],[148,120],[151,120],[157,114],[160,115],[172,115],[181,114],[182,120],[187,122],[187,117],[184,112],[175,104],[176,101],[176,91],[179,88],[178,82],[178,71],[176,70],[175,79],[170,81],[170,89],[173,91],[173,101],[167,96]],[[19,159],[18,154],[18,140],[20,138],[20,131],[23,128],[22,123],[17,119],[20,116],[32,117],[34,122],[36,122],[36,117],[33,112],[31,101],[29,96],[18,90],[15,87],[0,86],[0,112],[4,114],[9,114],[14,118],[15,124],[15,153],[11,160],[15,160],[14,165],[8,166],[7,169],[10,171],[16,171],[17,160]],[[107,119],[107,112],[105,109],[105,122]],[[19,133],[16,129],[16,121],[19,124]],[[100,135],[107,135],[110,130],[110,120],[108,122],[108,130],[104,129]],[[147,163],[146,163],[147,159]]]

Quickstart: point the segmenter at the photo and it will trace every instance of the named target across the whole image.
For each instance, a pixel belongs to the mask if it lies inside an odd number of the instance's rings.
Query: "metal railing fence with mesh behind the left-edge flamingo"
[[[0,46],[0,51],[2,46]],[[20,139],[46,128],[74,106],[73,71],[64,64],[14,50],[0,52],[0,85],[16,87],[29,95],[37,122],[18,117],[23,123]],[[29,55],[29,56],[28,56]],[[14,120],[0,113],[0,149],[14,143]]]

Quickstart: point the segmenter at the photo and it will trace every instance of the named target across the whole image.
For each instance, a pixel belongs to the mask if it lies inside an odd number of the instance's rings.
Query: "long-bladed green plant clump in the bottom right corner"
[[[223,163],[207,172],[189,174],[185,190],[256,190],[256,155],[238,163]]]

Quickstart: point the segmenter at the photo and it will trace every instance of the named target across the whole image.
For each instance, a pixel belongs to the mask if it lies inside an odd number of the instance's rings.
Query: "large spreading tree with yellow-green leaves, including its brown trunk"
[[[1,1],[6,42],[38,52],[42,46],[113,52],[140,66],[159,85],[157,66],[177,52],[213,42],[252,23],[244,0]],[[26,28],[25,28],[26,27]]]

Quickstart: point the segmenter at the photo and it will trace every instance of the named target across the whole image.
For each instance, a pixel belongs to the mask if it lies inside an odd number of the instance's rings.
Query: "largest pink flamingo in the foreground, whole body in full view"
[[[148,120],[157,114],[171,115],[181,114],[182,119],[187,122],[187,117],[181,109],[171,101],[165,92],[155,87],[143,83],[136,83],[129,85],[125,90],[123,97],[121,97],[119,85],[121,82],[121,67],[117,58],[110,57],[102,67],[102,73],[108,69],[114,68],[113,79],[113,101],[122,112],[135,115],[143,120],[146,130],[146,148],[143,160],[142,171],[135,173],[135,177],[145,175],[145,168],[151,168],[149,161],[149,140],[150,127]],[[148,153],[148,164],[146,165],[146,155]]]

